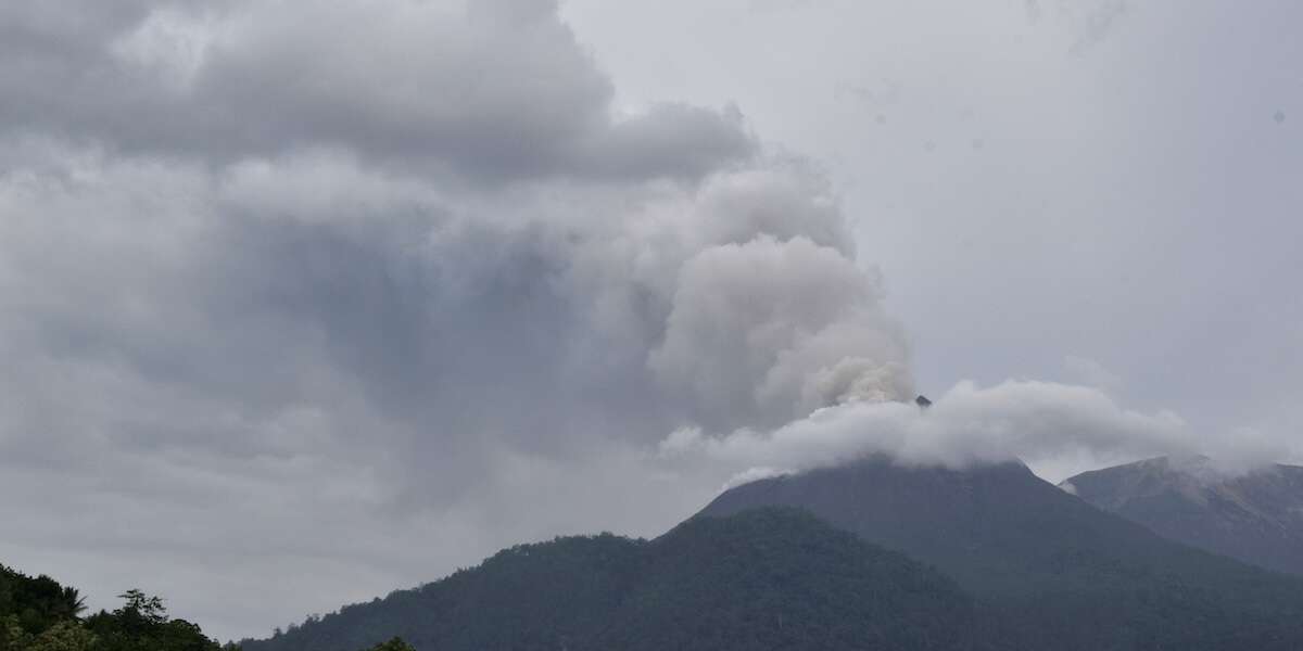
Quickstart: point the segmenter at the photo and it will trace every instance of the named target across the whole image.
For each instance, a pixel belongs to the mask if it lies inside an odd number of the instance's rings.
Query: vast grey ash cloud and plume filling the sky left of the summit
[[[649,462],[675,427],[909,392],[821,173],[736,107],[616,111],[555,3],[18,1],[0,33],[0,556],[94,607],[143,577],[257,634],[652,534],[709,491]]]

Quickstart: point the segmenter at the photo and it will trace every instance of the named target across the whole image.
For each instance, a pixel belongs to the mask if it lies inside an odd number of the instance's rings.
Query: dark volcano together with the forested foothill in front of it
[[[652,542],[513,547],[244,644],[394,635],[421,651],[1294,651],[1303,581],[1161,538],[1020,464],[870,458],[739,486]]]

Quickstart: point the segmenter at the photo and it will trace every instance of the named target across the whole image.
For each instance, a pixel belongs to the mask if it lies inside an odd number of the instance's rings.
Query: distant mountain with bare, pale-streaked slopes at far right
[[[1173,540],[1303,575],[1303,467],[1226,474],[1207,457],[1158,457],[1059,486]]]

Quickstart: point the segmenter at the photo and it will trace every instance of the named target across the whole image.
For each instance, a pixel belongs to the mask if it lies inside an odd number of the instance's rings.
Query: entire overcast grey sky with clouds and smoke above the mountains
[[[0,562],[229,638],[865,450],[1298,460],[1300,20],[5,3]]]

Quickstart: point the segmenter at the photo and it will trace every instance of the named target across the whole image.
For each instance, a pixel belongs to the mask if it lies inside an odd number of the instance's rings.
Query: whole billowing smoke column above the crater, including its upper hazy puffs
[[[648,401],[711,431],[913,397],[881,277],[856,262],[846,216],[807,165],[761,158],[654,190],[619,220],[599,208],[539,224],[566,229],[566,296],[610,345],[585,340],[576,366],[637,365],[654,380]]]

